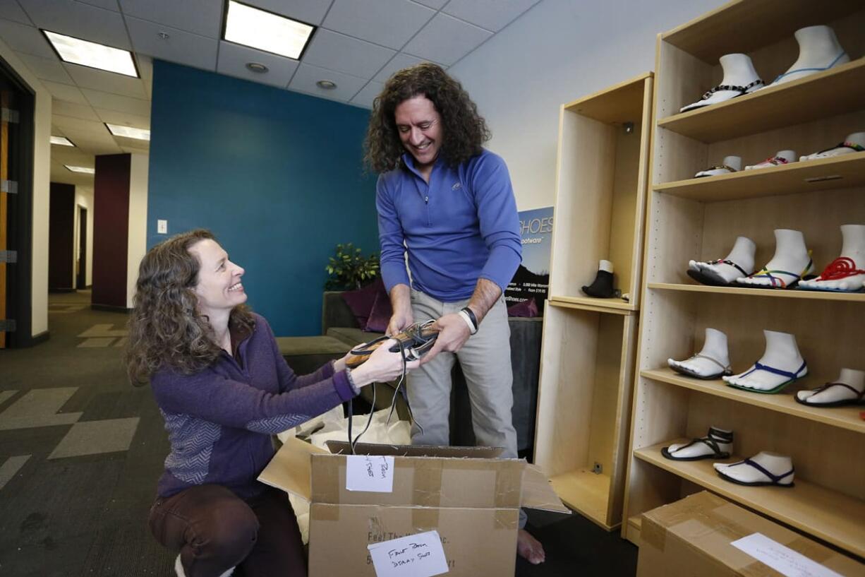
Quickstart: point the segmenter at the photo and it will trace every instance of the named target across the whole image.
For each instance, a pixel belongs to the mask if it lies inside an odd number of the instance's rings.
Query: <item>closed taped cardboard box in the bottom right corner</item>
[[[643,514],[637,577],[783,577],[785,573],[731,545],[755,533],[837,574],[865,575],[862,563],[702,491]]]

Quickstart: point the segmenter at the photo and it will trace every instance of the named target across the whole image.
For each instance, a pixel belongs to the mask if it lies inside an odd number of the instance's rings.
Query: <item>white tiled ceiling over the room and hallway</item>
[[[54,96],[52,133],[77,146],[52,146],[52,181],[92,189],[92,176],[63,165],[148,152],[147,142],[112,136],[103,122],[150,127],[153,58],[368,108],[396,70],[424,61],[448,68],[539,2],[240,1],[316,25],[301,60],[222,41],[224,0],[0,0],[0,39]],[[132,50],[141,78],[61,62],[39,29]],[[253,73],[247,62],[269,71]]]

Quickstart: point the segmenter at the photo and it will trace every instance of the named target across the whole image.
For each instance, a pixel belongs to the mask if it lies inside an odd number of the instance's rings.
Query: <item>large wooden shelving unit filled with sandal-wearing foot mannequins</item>
[[[721,81],[721,55],[745,52],[765,81],[795,61],[793,33],[828,24],[851,62],[798,81],[704,107],[679,108]],[[639,544],[640,515],[708,489],[849,554],[865,555],[865,421],[861,407],[800,405],[793,392],[862,369],[865,295],[707,287],[690,259],[726,256],[735,237],[757,245],[757,267],[775,250],[772,231],[801,230],[817,272],[841,250],[842,224],[865,223],[865,153],[693,178],[728,155],[753,165],[778,150],[834,146],[865,126],[865,3],[741,0],[658,36],[651,185],[646,204],[643,294],[622,534]],[[684,377],[667,359],[702,348],[707,327],[727,334],[736,372],[765,349],[763,330],[794,334],[809,376],[779,394]],[[683,463],[660,448],[711,425],[734,431],[734,451],[790,455],[796,485],[742,487],[711,460]]]

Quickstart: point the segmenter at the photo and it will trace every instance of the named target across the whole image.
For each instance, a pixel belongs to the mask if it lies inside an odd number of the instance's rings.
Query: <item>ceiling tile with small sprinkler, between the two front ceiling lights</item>
[[[216,69],[216,49],[219,42],[214,38],[198,36],[131,16],[126,16],[126,24],[129,26],[129,35],[136,51],[186,66]],[[158,36],[160,32],[167,33],[169,37],[163,40]]]

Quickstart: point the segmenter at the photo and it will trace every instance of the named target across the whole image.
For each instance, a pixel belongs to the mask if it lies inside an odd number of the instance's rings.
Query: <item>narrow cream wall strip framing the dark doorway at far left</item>
[[[15,53],[0,40],[0,57],[5,60],[35,93],[33,146],[33,274],[31,334],[48,330],[48,206],[51,173],[51,94]]]

